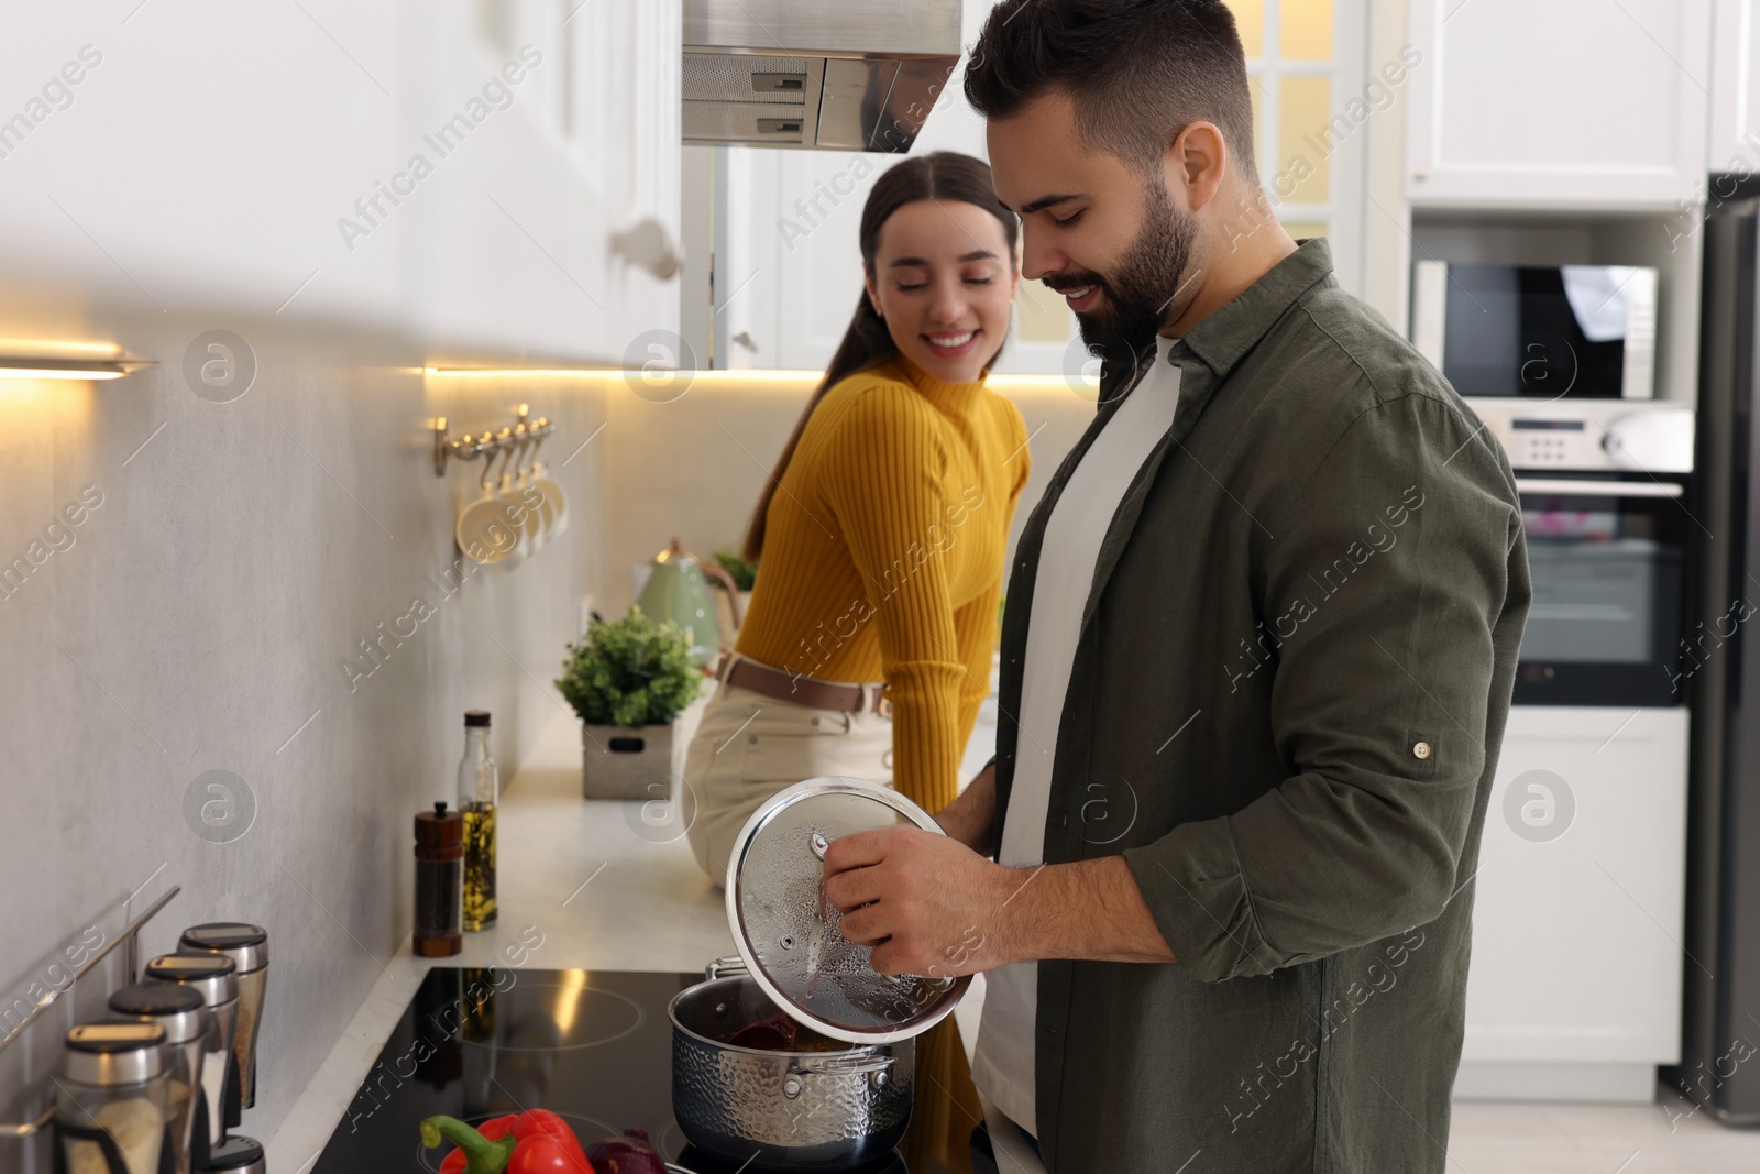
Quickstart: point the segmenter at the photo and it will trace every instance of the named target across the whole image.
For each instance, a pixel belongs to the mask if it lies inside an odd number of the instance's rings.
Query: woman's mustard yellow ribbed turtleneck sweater
[[[766,516],[736,651],[820,681],[885,681],[892,785],[935,813],[989,693],[1026,421],[984,380],[905,356],[840,380]]]

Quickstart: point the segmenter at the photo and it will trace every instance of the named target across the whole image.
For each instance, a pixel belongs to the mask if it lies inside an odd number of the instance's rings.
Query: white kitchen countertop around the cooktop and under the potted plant
[[[704,702],[679,718],[683,741]],[[984,718],[966,748],[961,785],[993,753],[994,716]],[[415,958],[403,940],[287,1119],[266,1139],[269,1169],[312,1169],[431,966],[693,972],[732,954],[722,891],[697,868],[683,834],[669,840],[665,829],[644,824],[642,806],[581,799],[581,725],[558,708],[502,789],[498,922],[466,933],[465,950],[451,958]],[[982,977],[956,1010],[968,1058],[980,1010]]]

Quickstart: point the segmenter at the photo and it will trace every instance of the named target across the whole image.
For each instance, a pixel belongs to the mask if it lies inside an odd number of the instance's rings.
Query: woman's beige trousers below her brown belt
[[[685,755],[686,836],[709,880],[727,884],[734,840],[766,799],[820,774],[891,787],[892,718],[817,709],[716,681]]]

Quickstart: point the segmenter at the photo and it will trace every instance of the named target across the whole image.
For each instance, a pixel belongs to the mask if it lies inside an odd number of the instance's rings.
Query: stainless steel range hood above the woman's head
[[[908,151],[961,0],[685,0],[685,143]]]

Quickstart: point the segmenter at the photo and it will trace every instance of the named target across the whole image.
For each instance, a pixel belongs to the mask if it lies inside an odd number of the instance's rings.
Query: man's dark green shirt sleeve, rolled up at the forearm
[[[1271,732],[1294,773],[1234,815],[1125,850],[1195,977],[1364,945],[1454,896],[1521,525],[1487,444],[1445,401],[1383,401],[1269,503]]]

